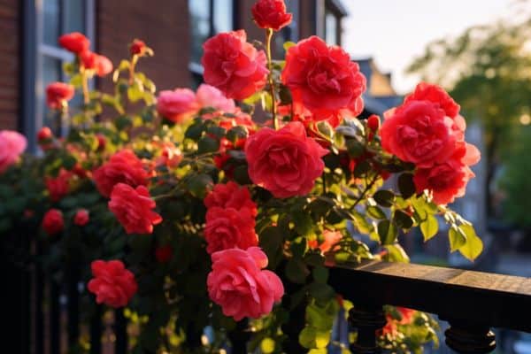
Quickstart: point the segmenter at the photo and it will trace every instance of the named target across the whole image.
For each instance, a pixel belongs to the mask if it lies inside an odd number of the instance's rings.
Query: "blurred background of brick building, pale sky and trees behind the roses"
[[[485,243],[475,263],[450,254],[440,237],[422,242],[403,235],[412,261],[531,276],[531,1],[527,0],[286,0],[293,22],[282,42],[319,35],[338,44],[367,78],[369,114],[400,104],[420,80],[450,91],[466,118],[467,141],[481,149],[476,178],[452,208],[472,221]],[[0,0],[0,129],[18,129],[36,152],[42,126],[67,131],[44,104],[44,89],[62,81],[73,58],[59,35],[79,31],[92,49],[127,57],[135,37],[155,50],[140,70],[158,89],[196,87],[202,81],[202,43],[210,36],[253,25],[253,0]],[[109,91],[108,81],[96,81]],[[529,155],[527,155],[529,154]],[[531,353],[531,338],[498,333],[497,352]],[[446,352],[441,348],[436,352]]]

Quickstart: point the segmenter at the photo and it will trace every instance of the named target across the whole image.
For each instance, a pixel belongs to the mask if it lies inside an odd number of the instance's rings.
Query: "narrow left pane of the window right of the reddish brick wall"
[[[189,0],[192,62],[199,63],[203,43],[210,36],[210,0]]]

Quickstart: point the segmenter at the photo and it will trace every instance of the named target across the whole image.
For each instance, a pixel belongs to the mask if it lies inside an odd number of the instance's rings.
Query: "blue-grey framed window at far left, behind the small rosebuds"
[[[46,106],[46,86],[52,81],[67,81],[62,65],[73,60],[73,54],[58,46],[58,37],[65,33],[81,32],[88,37],[92,25],[93,0],[36,0],[36,56],[35,93],[36,128],[50,127],[56,134],[65,135],[67,125],[58,112]],[[77,102],[76,102],[77,100]],[[80,104],[76,96],[73,105]]]

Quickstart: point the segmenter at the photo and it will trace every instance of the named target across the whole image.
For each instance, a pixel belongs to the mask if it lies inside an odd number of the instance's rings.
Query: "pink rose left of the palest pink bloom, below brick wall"
[[[160,91],[157,97],[157,112],[165,119],[181,123],[197,112],[196,94],[191,89]]]

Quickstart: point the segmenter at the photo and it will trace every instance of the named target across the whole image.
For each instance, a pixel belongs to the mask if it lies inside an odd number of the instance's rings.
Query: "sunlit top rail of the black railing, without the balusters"
[[[365,261],[330,269],[354,304],[404,306],[442,319],[531,333],[531,279],[438,266]]]

